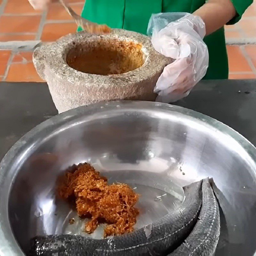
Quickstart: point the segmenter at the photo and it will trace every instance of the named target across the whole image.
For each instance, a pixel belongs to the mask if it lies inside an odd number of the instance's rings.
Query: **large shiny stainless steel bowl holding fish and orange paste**
[[[68,166],[89,162],[141,194],[136,228],[178,207],[183,185],[211,177],[221,206],[216,255],[254,255],[255,161],[244,137],[185,108],[116,101],[70,110],[28,132],[0,164],[0,254],[24,255],[36,235],[85,235],[83,221],[55,198],[55,181]],[[93,237],[100,234],[102,227]]]

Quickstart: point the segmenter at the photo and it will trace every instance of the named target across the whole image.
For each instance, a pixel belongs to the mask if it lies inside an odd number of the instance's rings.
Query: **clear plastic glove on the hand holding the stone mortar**
[[[170,103],[188,96],[208,68],[204,21],[184,12],[153,14],[148,35],[157,52],[175,59],[158,78],[156,101]]]

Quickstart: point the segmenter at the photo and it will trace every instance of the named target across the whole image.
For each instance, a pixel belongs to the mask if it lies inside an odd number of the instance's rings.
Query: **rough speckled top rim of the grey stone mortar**
[[[123,73],[123,74],[115,74],[115,75],[95,75],[95,74],[87,74],[81,71],[78,71],[74,68],[71,68],[67,61],[66,57],[68,52],[70,51],[70,46],[72,44],[79,43],[82,40],[99,40],[101,38],[109,38],[109,39],[121,39],[125,41],[133,41],[135,43],[142,44],[142,51],[145,56],[145,61],[140,68],[136,68],[132,71]],[[75,45],[74,44],[74,45]],[[120,86],[128,86],[126,83],[122,83],[123,79],[132,79],[145,80],[148,76],[151,76],[152,73],[152,65],[155,66],[155,70],[157,67],[161,66],[161,64],[167,63],[167,59],[170,58],[165,57],[164,55],[156,52],[151,44],[151,40],[148,36],[142,35],[137,32],[128,31],[124,29],[113,29],[112,32],[108,35],[91,35],[86,33],[85,31],[77,32],[75,34],[68,34],[66,36],[61,37],[55,43],[44,46],[43,52],[45,53],[45,67],[49,68],[54,72],[56,76],[59,78],[68,79],[69,82],[74,82],[78,84],[84,84],[85,80],[93,79],[95,83],[109,83],[110,80],[120,80]],[[39,47],[40,48],[40,47]],[[40,51],[40,50],[39,50]],[[157,58],[156,58],[157,57]],[[154,63],[153,60],[160,59],[161,61],[157,64]],[[58,65],[56,66],[56,63]],[[154,70],[154,68],[153,68]],[[72,74],[72,75],[70,75]],[[90,84],[86,84],[86,86],[90,86]],[[93,84],[91,86],[94,86]]]

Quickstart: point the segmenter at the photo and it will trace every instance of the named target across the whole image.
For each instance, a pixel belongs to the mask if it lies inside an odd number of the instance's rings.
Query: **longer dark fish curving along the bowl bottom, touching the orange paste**
[[[174,212],[145,228],[110,239],[75,235],[37,236],[31,240],[30,256],[158,256],[177,248],[196,225],[202,204],[202,180],[184,189],[184,200]]]

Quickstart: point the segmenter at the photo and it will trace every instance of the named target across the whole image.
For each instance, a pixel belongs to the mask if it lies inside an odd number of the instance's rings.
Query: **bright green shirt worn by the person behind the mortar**
[[[252,0],[232,0],[237,16],[228,24],[241,19]],[[195,12],[204,0],[86,0],[82,17],[107,24],[111,28],[124,28],[146,34],[152,13]],[[78,28],[78,31],[81,28]],[[204,38],[209,51],[209,68],[204,79],[228,78],[228,57],[224,28]]]

